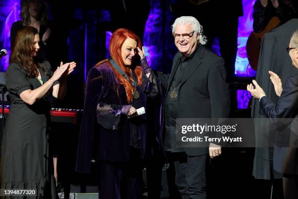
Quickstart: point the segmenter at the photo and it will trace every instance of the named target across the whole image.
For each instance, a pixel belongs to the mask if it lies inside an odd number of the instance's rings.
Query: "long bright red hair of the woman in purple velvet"
[[[113,58],[113,60],[116,61],[116,63],[125,71],[126,75],[130,78],[130,80],[133,81],[131,70],[134,70],[138,79],[138,85],[142,85],[142,67],[140,66],[139,59],[134,59],[131,66],[128,67],[124,64],[124,61],[121,57],[121,47],[124,41],[128,38],[131,38],[133,40],[136,40],[137,46],[139,48],[142,48],[142,42],[140,38],[134,34],[132,31],[125,29],[125,28],[119,28],[117,29],[111,37],[110,40],[110,55]],[[138,54],[136,54],[138,56]],[[108,62],[112,70],[114,71],[116,75],[116,81],[119,84],[123,84],[126,91],[127,101],[132,101],[132,93],[134,91],[133,85],[130,83],[129,80],[125,79],[118,71],[112,67],[112,64],[109,62],[109,60],[102,60],[99,63],[96,64],[96,66],[101,65],[103,62]],[[130,70],[131,69],[131,70]],[[118,88],[116,88],[118,89]],[[117,90],[118,93],[118,90]]]

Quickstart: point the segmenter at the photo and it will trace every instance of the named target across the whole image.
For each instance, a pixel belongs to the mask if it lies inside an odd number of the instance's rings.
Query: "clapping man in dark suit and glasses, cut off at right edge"
[[[292,64],[298,69],[298,30],[296,30],[290,40],[289,47],[286,48],[289,56],[292,60]],[[270,80],[274,85],[274,90],[277,96],[279,96],[278,103],[274,103],[270,100],[261,86],[256,80],[253,80],[253,84],[247,85],[247,90],[251,95],[257,99],[260,99],[260,114],[269,118],[270,121],[275,123],[277,119],[282,118],[296,118],[291,125],[291,134],[297,133],[297,116],[298,116],[298,74],[290,76],[285,85],[282,86],[282,82],[277,74],[269,71]],[[285,135],[283,135],[285,136]],[[291,140],[291,136],[285,137]],[[295,137],[294,137],[295,138]],[[296,137],[297,138],[297,137]],[[293,139],[293,138],[292,138]],[[283,196],[284,199],[297,199],[298,198],[298,160],[297,160],[297,146],[291,146],[289,141],[289,147],[274,148],[273,167],[274,170],[282,173],[283,181]]]

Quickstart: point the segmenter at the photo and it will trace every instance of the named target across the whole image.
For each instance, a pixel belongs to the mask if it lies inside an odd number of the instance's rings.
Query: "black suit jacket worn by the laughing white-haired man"
[[[158,74],[166,95],[169,95],[181,57],[180,52],[174,56],[170,74]],[[225,79],[223,59],[200,45],[182,74],[178,93],[179,118],[228,118],[230,94]],[[185,148],[185,151],[189,156],[208,154],[207,148]]]

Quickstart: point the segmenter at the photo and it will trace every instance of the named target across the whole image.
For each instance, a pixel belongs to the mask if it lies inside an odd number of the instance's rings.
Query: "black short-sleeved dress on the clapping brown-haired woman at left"
[[[41,65],[44,68],[44,71],[39,68],[41,80],[46,82],[53,75],[51,66],[47,61]],[[50,103],[47,99],[50,92],[33,105],[19,97],[23,91],[41,85],[37,78],[29,78],[17,63],[10,64],[6,71],[12,106],[3,132],[0,187],[37,189],[38,198],[56,199],[53,157],[49,150]]]

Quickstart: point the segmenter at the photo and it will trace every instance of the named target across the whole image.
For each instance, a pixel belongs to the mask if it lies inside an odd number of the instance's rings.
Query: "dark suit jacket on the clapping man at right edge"
[[[264,96],[260,100],[260,114],[276,122],[276,118],[295,118],[298,115],[298,75],[290,76],[283,88],[277,104]],[[295,141],[297,139],[297,119],[291,125],[289,138],[277,133],[276,136],[283,140]],[[283,141],[278,139],[277,141]],[[294,143],[295,144],[295,143]],[[286,174],[298,174],[298,153],[296,147],[275,147],[273,166],[276,171]]]

